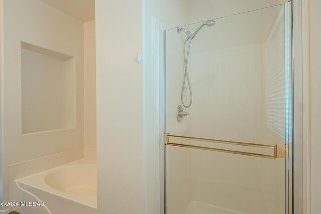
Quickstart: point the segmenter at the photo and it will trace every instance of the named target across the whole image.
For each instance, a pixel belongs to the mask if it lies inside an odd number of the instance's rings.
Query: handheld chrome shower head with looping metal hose
[[[184,28],[181,28],[181,27],[177,27],[177,33],[180,33],[180,31],[183,31],[186,35],[187,35],[187,38],[184,42],[184,47],[183,47],[183,52],[184,52],[184,80],[183,80],[183,85],[182,85],[182,91],[181,91],[181,101],[182,101],[182,104],[185,108],[189,108],[192,104],[192,89],[191,89],[191,84],[190,84],[190,80],[189,80],[189,75],[187,73],[187,65],[188,65],[188,60],[189,60],[189,53],[190,53],[190,46],[191,46],[191,42],[192,42],[192,39],[194,39],[194,37],[196,36],[196,34],[201,30],[201,28],[203,26],[208,26],[208,27],[211,27],[213,25],[215,25],[215,21],[214,20],[208,20],[206,22],[204,22],[202,25],[200,25],[195,31],[193,34],[191,34],[190,31],[184,29]],[[187,47],[187,51],[186,51],[186,43],[189,42],[188,44],[188,47]],[[185,80],[187,80],[187,84],[189,86],[189,91],[190,91],[190,102],[188,105],[186,105],[184,103],[184,100],[183,100],[183,94],[184,94],[184,87],[185,87]]]

